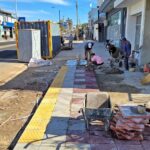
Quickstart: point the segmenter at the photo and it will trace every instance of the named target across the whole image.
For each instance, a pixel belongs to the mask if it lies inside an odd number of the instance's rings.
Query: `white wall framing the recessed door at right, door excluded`
[[[140,45],[143,45],[144,20],[145,20],[145,0],[137,0],[127,6],[127,21],[126,21],[126,37],[132,44],[132,49],[135,47],[135,33],[136,33],[136,15],[141,13],[141,37]]]

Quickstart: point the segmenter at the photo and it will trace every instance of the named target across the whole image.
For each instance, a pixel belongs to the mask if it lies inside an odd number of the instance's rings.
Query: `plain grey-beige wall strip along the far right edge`
[[[144,38],[143,49],[141,54],[141,64],[150,63],[150,1],[146,1],[146,11],[144,19]]]

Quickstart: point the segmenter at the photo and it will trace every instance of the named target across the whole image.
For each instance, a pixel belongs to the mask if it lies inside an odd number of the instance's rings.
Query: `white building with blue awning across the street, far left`
[[[14,23],[16,19],[12,13],[0,9],[1,37],[14,37]]]

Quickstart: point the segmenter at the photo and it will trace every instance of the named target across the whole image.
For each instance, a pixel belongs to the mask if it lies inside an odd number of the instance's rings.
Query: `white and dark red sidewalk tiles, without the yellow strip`
[[[150,150],[150,128],[145,140],[121,141],[104,131],[103,123],[92,124],[89,131],[80,108],[88,92],[99,91],[94,72],[83,66],[68,66],[63,87],[45,135],[39,142],[18,144],[15,150]]]

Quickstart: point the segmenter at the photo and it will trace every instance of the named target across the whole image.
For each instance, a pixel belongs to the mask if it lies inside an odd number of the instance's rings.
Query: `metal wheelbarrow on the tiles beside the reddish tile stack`
[[[95,120],[103,121],[105,131],[109,130],[112,111],[108,93],[96,92],[86,94],[84,107],[80,111],[83,114],[87,130],[89,130],[91,122]]]

